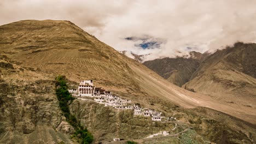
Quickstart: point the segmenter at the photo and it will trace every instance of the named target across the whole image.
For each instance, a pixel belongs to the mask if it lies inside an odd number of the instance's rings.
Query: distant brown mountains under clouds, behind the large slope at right
[[[209,53],[190,52],[190,58],[162,58],[143,64],[192,92],[241,106],[255,107],[256,44],[238,42]]]

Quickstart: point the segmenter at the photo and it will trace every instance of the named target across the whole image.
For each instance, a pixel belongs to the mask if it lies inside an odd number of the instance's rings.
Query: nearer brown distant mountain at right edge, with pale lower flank
[[[183,87],[241,107],[256,105],[256,44],[236,43],[203,61]]]

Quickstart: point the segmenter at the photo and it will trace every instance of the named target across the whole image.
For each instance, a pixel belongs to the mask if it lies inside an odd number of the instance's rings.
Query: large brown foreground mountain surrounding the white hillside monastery
[[[70,112],[91,131],[94,143],[115,137],[143,143],[256,140],[254,108],[238,109],[177,87],[72,22],[24,20],[0,26],[0,47],[0,143],[77,143],[55,94],[57,75],[65,75],[70,87],[94,80],[121,98],[177,118],[152,122],[131,110],[69,101]],[[143,139],[164,130],[177,137]]]

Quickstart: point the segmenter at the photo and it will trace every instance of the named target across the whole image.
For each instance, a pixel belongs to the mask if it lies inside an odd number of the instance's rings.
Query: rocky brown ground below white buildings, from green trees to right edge
[[[103,104],[94,101],[76,99],[70,108],[79,122],[92,131],[95,143],[107,143],[113,138],[143,143],[253,143],[255,141],[253,137],[255,125],[205,107],[173,110],[172,116],[178,121],[167,122],[153,122],[148,117],[134,116],[132,110],[104,107]],[[178,125],[173,130],[175,124]],[[184,133],[179,134],[183,130]],[[169,131],[170,136],[143,139],[159,131]]]

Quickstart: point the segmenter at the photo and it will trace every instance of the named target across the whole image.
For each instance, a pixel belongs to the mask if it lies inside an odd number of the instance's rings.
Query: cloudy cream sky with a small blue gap
[[[255,0],[0,0],[0,25],[27,19],[69,20],[146,60],[256,41]]]

